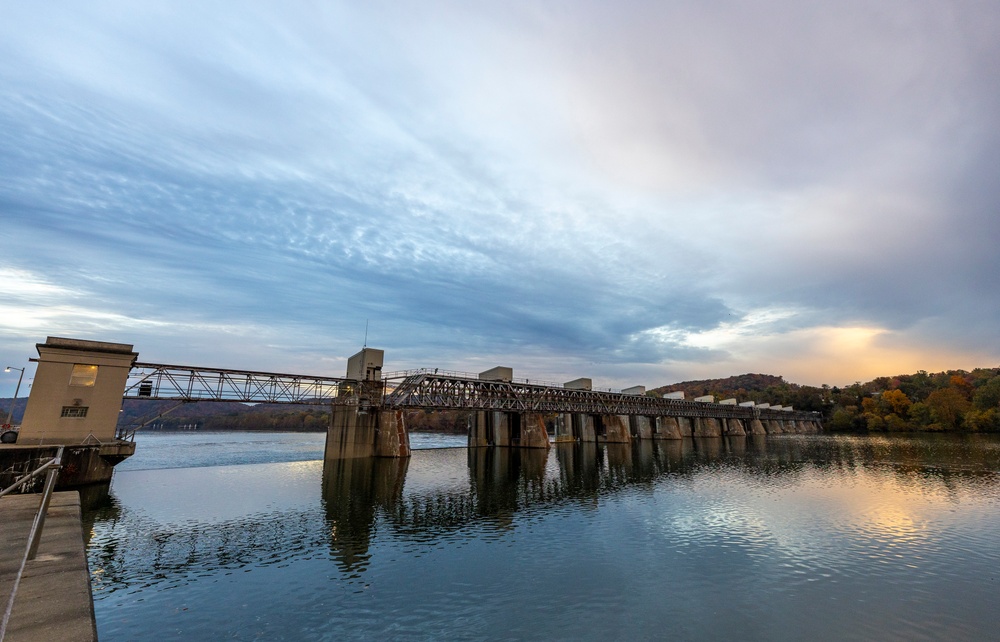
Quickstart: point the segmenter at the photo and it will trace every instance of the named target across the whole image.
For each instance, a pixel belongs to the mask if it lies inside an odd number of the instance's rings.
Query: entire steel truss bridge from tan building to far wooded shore
[[[526,380],[489,381],[431,370],[390,373],[382,381],[355,381],[220,368],[135,363],[125,399],[177,402],[375,406],[386,410],[646,415],[815,421],[818,413],[663,399],[602,390],[578,390]]]

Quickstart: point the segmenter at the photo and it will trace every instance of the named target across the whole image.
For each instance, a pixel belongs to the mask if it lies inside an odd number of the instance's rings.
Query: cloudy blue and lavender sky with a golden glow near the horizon
[[[996,367],[998,33],[990,0],[4,3],[0,365]]]

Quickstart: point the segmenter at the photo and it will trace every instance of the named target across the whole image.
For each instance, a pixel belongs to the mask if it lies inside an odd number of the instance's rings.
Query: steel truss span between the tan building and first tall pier
[[[342,398],[351,383],[338,377],[135,363],[124,398],[329,404]]]

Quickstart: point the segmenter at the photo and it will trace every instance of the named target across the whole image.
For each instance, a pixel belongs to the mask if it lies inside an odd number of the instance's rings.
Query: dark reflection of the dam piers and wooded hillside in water
[[[429,542],[461,536],[488,538],[509,530],[518,513],[545,511],[572,502],[596,505],[602,496],[657,482],[689,484],[722,470],[748,486],[774,489],[798,483],[807,470],[835,472],[848,482],[860,471],[889,470],[900,486],[921,494],[951,495],[970,484],[998,496],[997,449],[957,445],[958,467],[942,466],[939,444],[925,440],[858,440],[750,436],[642,441],[632,444],[558,444],[537,449],[469,449],[467,484],[442,475],[406,482],[407,460],[331,462],[323,471],[323,505],[331,550],[345,572],[359,573],[381,521],[395,536]],[[946,447],[955,448],[952,443]],[[877,450],[877,455],[872,451]],[[457,462],[456,451],[428,453],[416,465],[431,470]],[[981,488],[980,488],[981,487]],[[831,493],[836,495],[836,491]],[[859,501],[852,493],[852,501]],[[888,495],[885,495],[888,498]],[[873,506],[859,514],[869,535],[912,530],[899,507]]]

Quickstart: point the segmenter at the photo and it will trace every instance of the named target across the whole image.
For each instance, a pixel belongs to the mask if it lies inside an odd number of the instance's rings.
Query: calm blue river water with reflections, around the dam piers
[[[322,450],[140,435],[85,513],[102,642],[1000,635],[996,437]]]

